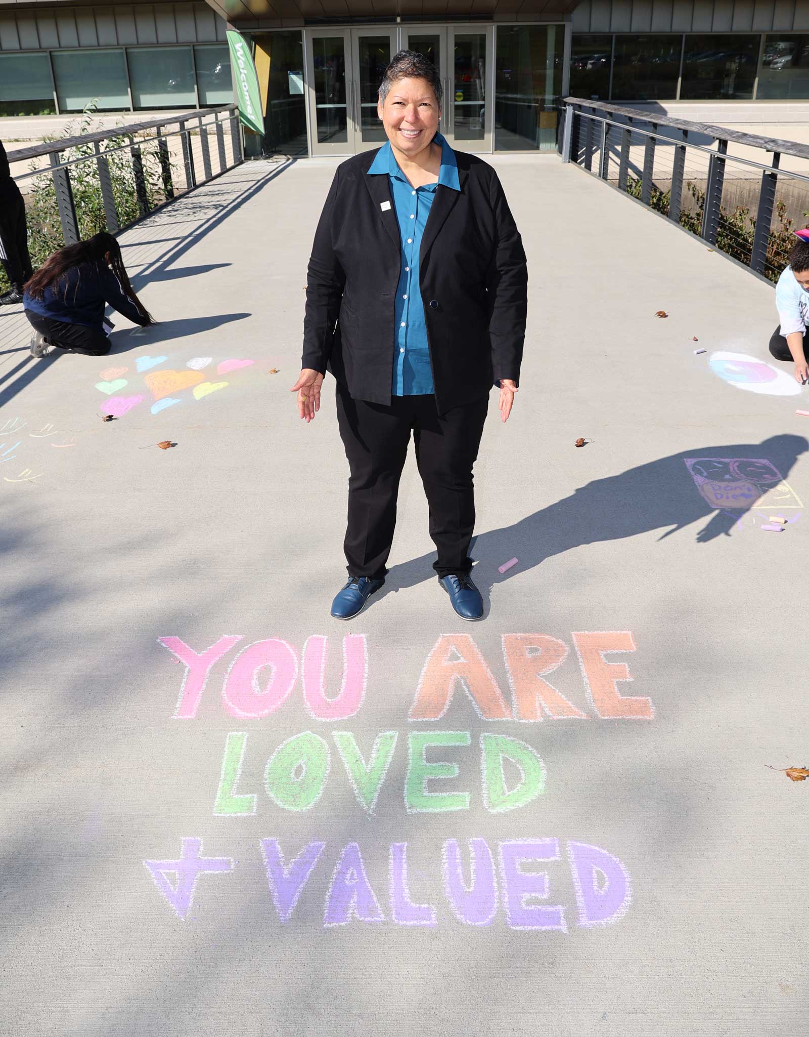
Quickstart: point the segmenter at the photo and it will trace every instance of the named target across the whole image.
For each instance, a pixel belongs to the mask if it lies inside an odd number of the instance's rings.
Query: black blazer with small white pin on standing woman
[[[376,151],[342,163],[320,216],[307,281],[302,367],[330,370],[354,399],[391,402],[402,243]],[[519,381],[525,252],[497,174],[455,152],[460,191],[436,188],[420,252],[420,286],[438,412]],[[382,211],[381,203],[388,202]]]

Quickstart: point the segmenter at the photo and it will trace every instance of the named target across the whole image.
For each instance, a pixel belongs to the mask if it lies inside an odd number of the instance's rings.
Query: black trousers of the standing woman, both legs
[[[439,416],[435,396],[394,396],[391,404],[351,399],[338,384],[337,417],[350,469],[344,549],[351,577],[382,579],[396,526],[396,502],[410,432],[430,508],[439,577],[471,568],[472,466],[488,396]]]

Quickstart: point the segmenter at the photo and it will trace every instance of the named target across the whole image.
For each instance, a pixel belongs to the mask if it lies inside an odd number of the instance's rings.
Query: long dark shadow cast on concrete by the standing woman
[[[706,524],[697,531],[697,543],[730,536],[735,523],[758,499],[758,493],[750,493],[751,484],[754,491],[777,486],[808,449],[809,442],[803,436],[772,436],[762,443],[684,450],[595,479],[512,526],[479,534],[470,551],[480,563],[473,573],[475,582],[485,592],[546,558],[582,544],[620,540],[652,530],[661,530],[662,540],[705,518]],[[712,460],[716,458],[744,464],[716,464]],[[728,507],[721,506],[725,497]],[[499,572],[497,567],[514,557],[519,565]],[[434,559],[434,554],[422,555],[392,566],[385,590],[411,587],[429,579]]]

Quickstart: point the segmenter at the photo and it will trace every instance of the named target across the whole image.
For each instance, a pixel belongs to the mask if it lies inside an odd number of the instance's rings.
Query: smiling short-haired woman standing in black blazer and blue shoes
[[[379,88],[387,143],[344,162],[309,262],[302,370],[292,391],[310,422],[323,375],[337,381],[350,467],[350,619],[384,583],[410,431],[430,508],[434,568],[463,619],[481,619],[469,578],[472,466],[489,391],[500,417],[517,392],[525,337],[525,253],[496,173],[437,132],[441,81],[400,51]]]

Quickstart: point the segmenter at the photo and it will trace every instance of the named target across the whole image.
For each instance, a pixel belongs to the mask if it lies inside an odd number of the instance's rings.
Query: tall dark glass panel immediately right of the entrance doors
[[[494,81],[496,150],[555,148],[564,46],[564,26],[498,26]]]

